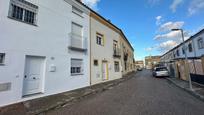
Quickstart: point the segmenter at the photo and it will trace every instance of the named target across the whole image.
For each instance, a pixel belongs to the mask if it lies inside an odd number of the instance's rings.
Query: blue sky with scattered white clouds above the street
[[[136,60],[162,55],[204,28],[204,0],[82,0],[121,28]]]

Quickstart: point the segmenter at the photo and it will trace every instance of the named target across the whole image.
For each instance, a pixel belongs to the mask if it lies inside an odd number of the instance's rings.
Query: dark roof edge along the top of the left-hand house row
[[[124,32],[118,28],[116,25],[114,25],[113,23],[111,23],[109,20],[105,19],[103,16],[101,16],[99,13],[97,13],[96,11],[92,10],[90,7],[88,7],[87,5],[83,4],[82,2],[80,2],[80,0],[76,0],[78,3],[80,3],[81,5],[85,6],[86,8],[88,8],[91,12],[93,12],[94,14],[96,14],[97,16],[99,16],[100,18],[102,18],[103,20],[105,20],[107,23],[109,23],[110,25],[112,25],[113,27],[115,27],[116,29],[118,29],[122,36],[125,38],[125,41],[129,44],[129,46],[131,47],[131,49],[134,51],[134,48],[132,47],[132,45],[130,44],[129,40],[127,39],[127,37],[125,36]]]

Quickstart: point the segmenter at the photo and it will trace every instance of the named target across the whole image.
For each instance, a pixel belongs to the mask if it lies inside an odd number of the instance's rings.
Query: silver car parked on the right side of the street
[[[169,71],[166,67],[155,67],[152,74],[154,77],[168,77]]]

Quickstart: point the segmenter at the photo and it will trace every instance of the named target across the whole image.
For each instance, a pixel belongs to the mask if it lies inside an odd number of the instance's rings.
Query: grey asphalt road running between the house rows
[[[144,70],[110,90],[46,115],[204,115],[204,102]]]

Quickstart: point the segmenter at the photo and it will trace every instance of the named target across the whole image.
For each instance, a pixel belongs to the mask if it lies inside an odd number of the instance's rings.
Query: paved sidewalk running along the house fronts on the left
[[[134,75],[135,72],[114,81],[6,106],[0,108],[0,115],[38,115],[49,110],[71,105],[89,95],[112,89],[114,86],[131,79]]]

